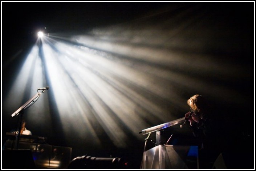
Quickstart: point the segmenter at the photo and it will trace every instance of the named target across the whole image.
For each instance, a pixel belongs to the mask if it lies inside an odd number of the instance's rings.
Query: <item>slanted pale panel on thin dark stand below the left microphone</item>
[[[29,99],[26,103],[24,103],[18,110],[16,110],[12,114],[12,117],[15,117],[20,114],[19,119],[18,119],[19,132],[18,132],[18,134],[15,135],[15,150],[18,150],[18,144],[19,144],[19,138],[20,138],[20,132],[21,132],[21,120],[22,120],[22,117],[24,114],[24,110],[27,109],[28,107],[30,107],[32,104],[34,104],[34,102],[36,102],[37,99],[40,97],[40,94],[44,93],[44,91],[45,90],[43,90],[41,93],[37,92],[36,95],[34,95],[34,97]]]

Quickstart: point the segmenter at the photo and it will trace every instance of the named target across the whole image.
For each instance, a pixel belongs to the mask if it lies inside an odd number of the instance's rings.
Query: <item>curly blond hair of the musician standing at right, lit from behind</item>
[[[191,110],[200,113],[203,113],[208,108],[206,99],[199,94],[193,95],[190,99],[188,99],[187,104],[191,107]]]

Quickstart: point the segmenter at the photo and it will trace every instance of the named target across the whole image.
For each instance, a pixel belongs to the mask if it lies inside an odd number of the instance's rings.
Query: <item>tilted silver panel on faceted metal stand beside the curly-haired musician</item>
[[[156,146],[144,150],[141,168],[143,169],[196,169],[198,168],[198,146],[161,145],[161,133],[164,128],[186,122],[184,117],[142,130],[140,133],[148,134],[157,131]],[[184,123],[185,123],[184,122]],[[184,124],[183,124],[184,125]],[[181,125],[181,128],[182,126]],[[147,141],[148,138],[145,140]],[[146,146],[146,142],[145,142]],[[145,149],[145,148],[144,148]]]

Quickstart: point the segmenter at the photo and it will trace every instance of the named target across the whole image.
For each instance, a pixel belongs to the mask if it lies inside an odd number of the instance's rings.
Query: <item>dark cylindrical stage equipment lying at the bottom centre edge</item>
[[[82,156],[74,158],[68,168],[72,169],[124,169],[127,163],[123,158],[100,158]]]

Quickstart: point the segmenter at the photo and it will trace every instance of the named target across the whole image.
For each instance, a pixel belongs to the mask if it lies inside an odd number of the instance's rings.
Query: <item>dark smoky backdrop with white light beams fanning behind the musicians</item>
[[[71,147],[72,158],[123,157],[139,168],[139,132],[184,117],[194,94],[211,103],[227,151],[254,151],[253,12],[253,2],[3,2],[2,143],[17,126],[11,114],[48,85],[25,110],[26,127]],[[38,30],[50,43],[36,44]],[[186,125],[165,133],[170,144],[194,143]]]

